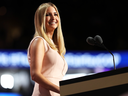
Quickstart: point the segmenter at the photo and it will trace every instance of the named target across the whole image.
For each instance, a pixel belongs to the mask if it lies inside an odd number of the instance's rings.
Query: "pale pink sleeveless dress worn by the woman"
[[[37,36],[33,38],[28,47],[28,62],[31,65],[31,57],[29,55],[29,48],[31,43],[36,38],[42,38]],[[63,76],[66,74],[68,66],[64,58],[62,58],[56,50],[53,50],[49,44],[43,39],[44,48],[45,48],[45,55],[42,64],[42,75],[45,76],[50,82],[59,86],[59,81],[62,80]],[[51,90],[47,90],[40,86],[38,83],[35,82],[34,90],[32,96],[60,96],[60,94],[53,92]]]

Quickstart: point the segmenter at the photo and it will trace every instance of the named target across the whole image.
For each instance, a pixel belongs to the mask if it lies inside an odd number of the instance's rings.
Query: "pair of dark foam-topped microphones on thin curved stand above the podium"
[[[107,47],[105,47],[105,45],[103,44],[103,40],[102,40],[102,38],[101,38],[99,35],[96,35],[96,36],[94,37],[94,39],[93,39],[92,37],[88,37],[88,38],[86,39],[86,42],[87,42],[89,45],[96,45],[96,46],[105,48],[105,49],[112,55],[112,57],[113,57],[114,69],[116,70],[114,55],[112,54],[111,51],[109,51],[109,50],[107,49]]]

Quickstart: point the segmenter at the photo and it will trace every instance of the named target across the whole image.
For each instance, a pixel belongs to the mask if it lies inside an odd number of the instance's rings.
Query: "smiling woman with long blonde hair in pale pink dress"
[[[57,7],[41,4],[34,23],[35,35],[28,47],[30,75],[35,81],[32,96],[60,96],[59,81],[66,74],[67,63]]]

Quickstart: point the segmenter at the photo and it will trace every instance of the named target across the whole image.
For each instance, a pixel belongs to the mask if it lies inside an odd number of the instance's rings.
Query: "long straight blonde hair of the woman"
[[[54,34],[53,34],[53,41],[55,44],[53,44],[51,40],[48,38],[48,36],[46,35],[46,28],[45,28],[46,11],[47,11],[47,8],[50,6],[55,8],[55,10],[58,13],[58,17],[59,17],[58,27],[57,29],[55,29]],[[66,49],[65,49],[64,38],[62,34],[60,15],[59,15],[57,7],[53,3],[50,3],[50,2],[41,4],[35,12],[34,23],[35,23],[34,37],[36,36],[43,37],[52,49],[57,50],[58,53],[62,57],[64,57]]]

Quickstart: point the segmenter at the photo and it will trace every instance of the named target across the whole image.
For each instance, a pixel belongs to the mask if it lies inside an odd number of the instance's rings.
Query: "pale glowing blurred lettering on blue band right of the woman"
[[[113,53],[115,56],[115,64],[118,66],[121,63],[121,56],[119,53]],[[111,54],[105,52],[67,52],[65,59],[69,65],[69,68],[95,68],[113,67],[113,58]]]

